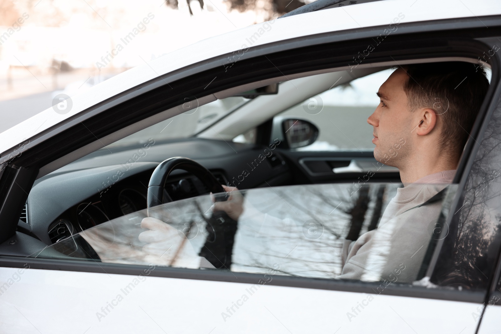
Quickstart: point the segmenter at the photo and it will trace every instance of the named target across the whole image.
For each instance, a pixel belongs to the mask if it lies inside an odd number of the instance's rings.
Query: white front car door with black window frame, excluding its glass
[[[426,52],[432,54],[435,52],[450,57],[467,54],[470,58],[475,58],[478,50],[488,52],[491,50],[491,44],[496,43],[493,40],[463,41],[464,36],[461,34],[458,37],[457,32],[446,31],[457,27],[456,23],[453,26],[447,26],[447,23],[443,22],[441,24],[443,31],[437,28],[430,34],[421,33],[420,39],[416,39],[416,35],[410,37],[406,33],[416,34],[419,28],[428,29],[426,28],[428,24],[415,25],[409,27],[407,31],[399,30],[401,33],[395,34],[392,43],[381,45],[381,54],[376,52],[374,61],[390,62],[389,57],[384,58],[384,54],[388,52],[392,52],[392,57],[396,57],[399,61],[404,58],[415,59],[416,50],[422,51],[420,57],[425,57]],[[480,27],[475,18],[464,20],[464,25]],[[492,23],[492,26],[495,27],[495,24]],[[474,35],[477,32],[472,28],[469,34]],[[366,36],[377,37],[378,33],[377,30],[367,31]],[[21,238],[13,239],[11,236],[14,234],[15,223],[36,178],[34,170],[42,170],[55,161],[57,161],[55,165],[61,164],[64,160],[62,158],[70,159],[68,156],[85,145],[95,143],[96,138],[97,141],[104,140],[106,136],[114,133],[113,131],[119,132],[139,120],[156,115],[160,110],[164,110],[163,108],[182,106],[183,104],[179,102],[184,101],[188,95],[205,96],[203,94],[255,81],[257,67],[260,71],[264,71],[263,76],[268,78],[279,75],[280,70],[277,71],[277,68],[287,68],[286,75],[297,73],[299,65],[295,62],[300,59],[302,62],[305,54],[311,56],[306,59],[311,59],[312,63],[301,64],[302,70],[346,66],[346,61],[351,59],[352,53],[367,42],[366,40],[339,42],[347,36],[337,35],[337,42],[322,42],[313,47],[298,49],[295,49],[297,46],[294,45],[298,41],[294,41],[289,45],[290,50],[287,52],[268,51],[267,57],[260,58],[256,54],[249,54],[248,62],[243,58],[233,65],[231,70],[234,70],[234,76],[231,78],[222,76],[220,80],[215,80],[215,73],[219,75],[223,73],[224,68],[221,66],[217,69],[204,68],[195,75],[186,70],[185,77],[174,85],[175,91],[168,98],[165,98],[168,84],[164,81],[172,78],[159,78],[154,83],[156,87],[142,86],[141,89],[145,91],[142,95],[130,97],[130,100],[125,102],[109,101],[111,105],[113,103],[115,105],[107,109],[106,113],[97,113],[84,120],[83,126],[69,127],[54,137],[49,136],[46,141],[13,159],[12,163],[3,169],[3,207],[0,212],[4,222],[2,233],[6,239],[2,245],[4,255],[0,262],[2,281],[5,282],[2,285],[0,307],[2,314],[5,315],[2,321],[4,328],[7,328],[6,331],[430,332],[434,330],[443,332],[452,328],[458,332],[474,333],[480,320],[473,318],[471,314],[477,312],[477,307],[482,307],[488,283],[492,278],[494,259],[498,257],[498,246],[495,246],[490,239],[489,242],[484,242],[486,246],[480,250],[472,247],[470,243],[461,248],[462,251],[471,253],[466,253],[464,256],[468,257],[469,261],[463,260],[460,252],[451,253],[457,248],[454,247],[457,238],[450,238],[451,241],[437,240],[436,247],[429,248],[429,261],[425,266],[425,277],[431,277],[431,283],[424,280],[422,281],[424,286],[421,287],[392,284],[385,285],[384,289],[381,287],[381,282],[279,277],[281,275],[266,271],[262,274],[212,272],[154,265],[19,256],[22,254],[22,249],[16,247],[25,247],[27,243],[22,242]],[[458,38],[464,43],[451,47],[449,41],[453,38]],[[430,41],[435,44],[430,46]],[[468,48],[474,46],[476,49],[464,50],[465,45]],[[332,51],[335,51],[335,56],[327,60],[323,58],[326,54],[333,55]],[[221,59],[224,60],[225,57]],[[489,64],[497,71],[499,59],[492,58]],[[204,92],[206,86],[202,87],[199,83],[210,80],[213,80],[214,85],[209,91]],[[472,191],[467,186],[468,182],[476,185],[475,181],[479,177],[479,169],[472,167],[474,159],[484,162],[483,151],[476,142],[483,140],[492,113],[498,108],[497,72],[493,73],[493,82],[495,85],[491,87],[460,166],[458,175],[461,179],[457,180],[460,181],[457,193],[461,196],[454,197],[451,209],[446,215],[445,224],[449,225],[449,228],[461,222],[459,218],[457,221],[454,220],[455,213],[463,208],[462,198]],[[162,108],[156,103],[161,104]],[[492,129],[498,131],[499,127]],[[491,162],[493,160],[485,161],[487,164],[490,163],[489,167],[492,165]],[[491,210],[490,203],[487,204],[486,210]],[[14,225],[9,224],[13,219],[16,220]],[[486,229],[490,227],[489,224],[491,220],[480,221],[480,225]],[[474,255],[475,259],[471,259],[468,255]],[[471,269],[468,279],[474,288],[469,291],[464,288],[452,289],[444,279],[453,272],[450,268],[458,259],[464,265],[471,263],[470,261],[474,261],[473,263],[477,265],[482,259],[487,259],[479,272],[474,268]],[[441,265],[440,270],[437,270],[437,263]],[[270,275],[273,275],[271,281]],[[461,275],[456,278],[458,278],[455,281],[456,286],[462,287],[468,283],[461,281],[464,278]],[[258,290],[254,285],[261,287]],[[381,293],[373,290],[378,287],[380,291],[382,289]],[[248,298],[244,298],[243,295]],[[367,308],[362,308],[360,304]],[[244,308],[246,306],[247,309]],[[423,318],[427,321],[422,321]]]

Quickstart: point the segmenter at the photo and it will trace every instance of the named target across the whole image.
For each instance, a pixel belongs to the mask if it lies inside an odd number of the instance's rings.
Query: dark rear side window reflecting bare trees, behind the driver
[[[432,279],[486,288],[501,245],[501,100],[486,124]]]

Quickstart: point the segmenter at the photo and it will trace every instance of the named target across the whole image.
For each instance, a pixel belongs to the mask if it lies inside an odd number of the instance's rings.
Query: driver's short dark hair
[[[409,108],[433,109],[443,120],[440,147],[460,156],[489,88],[481,66],[464,62],[403,65]]]

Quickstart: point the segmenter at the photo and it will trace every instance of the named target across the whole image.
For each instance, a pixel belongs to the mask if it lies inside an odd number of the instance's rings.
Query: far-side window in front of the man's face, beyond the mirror
[[[276,118],[300,118],[319,129],[318,139],[299,151],[373,151],[367,118],[379,105],[376,95],[392,69],[355,79],[289,108]]]

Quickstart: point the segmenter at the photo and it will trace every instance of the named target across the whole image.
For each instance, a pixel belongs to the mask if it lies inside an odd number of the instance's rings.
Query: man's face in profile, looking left
[[[407,78],[407,73],[402,69],[390,75],[377,93],[381,100],[379,106],[367,119],[367,123],[374,128],[374,158],[397,168],[412,147],[409,139],[413,117],[403,90]]]

